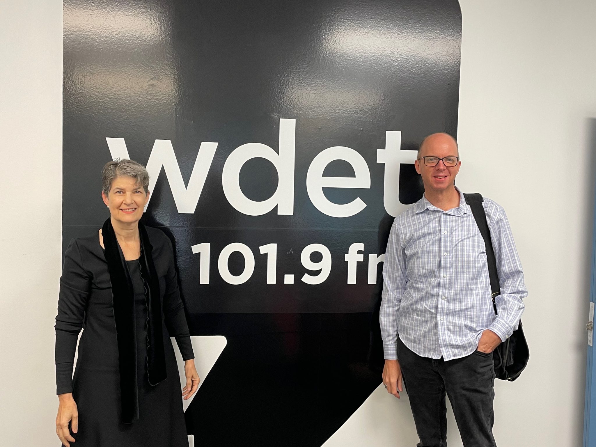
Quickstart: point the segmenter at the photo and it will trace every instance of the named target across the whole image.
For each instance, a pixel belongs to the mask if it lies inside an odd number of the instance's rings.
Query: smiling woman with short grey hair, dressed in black
[[[184,399],[199,378],[172,243],[139,222],[148,185],[139,163],[105,164],[101,195],[111,216],[66,250],[55,329],[56,432],[67,447],[188,446],[170,335],[185,361]]]

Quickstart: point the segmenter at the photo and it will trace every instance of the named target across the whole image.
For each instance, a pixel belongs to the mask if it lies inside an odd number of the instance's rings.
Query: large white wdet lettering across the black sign
[[[124,138],[105,138],[105,141],[107,141],[113,159],[129,158]],[[253,142],[243,144],[229,154],[222,170],[222,187],[231,206],[239,212],[249,216],[260,216],[277,206],[278,215],[294,214],[295,119],[280,119],[279,146],[279,151],[275,152],[268,145]],[[400,164],[414,163],[416,159],[416,151],[402,151],[400,146],[401,132],[387,131],[385,148],[377,150],[377,163],[385,164],[383,204],[387,213],[393,217],[398,216],[409,206],[399,201]],[[172,142],[169,139],[156,139],[147,162],[147,171],[151,177],[149,190],[154,190],[163,167],[178,212],[194,213],[217,147],[218,143],[216,142],[201,142],[193,172],[188,180],[188,187],[185,187]],[[277,170],[277,190],[267,200],[250,200],[240,188],[240,170],[244,163],[254,158],[269,160]],[[325,167],[333,160],[344,160],[350,163],[355,175],[353,177],[323,176]],[[333,203],[325,197],[323,188],[368,189],[370,187],[370,171],[364,157],[349,147],[334,146],[317,154],[306,174],[306,191],[313,205],[322,213],[335,218],[356,215],[367,204],[359,197],[346,204]]]

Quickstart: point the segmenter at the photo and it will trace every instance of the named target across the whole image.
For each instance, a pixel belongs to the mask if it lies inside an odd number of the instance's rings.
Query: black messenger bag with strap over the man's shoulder
[[[484,198],[482,195],[464,194],[465,203],[470,205],[472,215],[476,220],[480,234],[485,241],[486,246],[486,260],[488,261],[488,273],[491,280],[492,291],[492,306],[496,311],[495,297],[501,294],[501,286],[499,285],[499,275],[496,271],[495,251],[492,247],[491,230],[488,228],[486,222],[486,213],[482,202]],[[522,371],[527,365],[530,358],[530,351],[527,347],[526,337],[523,334],[522,320],[511,337],[505,342],[496,347],[493,354],[493,361],[495,362],[496,378],[501,380],[508,380],[513,382],[522,374]]]

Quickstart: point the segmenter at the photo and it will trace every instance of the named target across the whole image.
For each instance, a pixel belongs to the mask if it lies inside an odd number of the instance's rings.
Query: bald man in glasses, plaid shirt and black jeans
[[[383,266],[383,384],[399,398],[402,374],[420,443],[445,447],[445,393],[465,447],[496,446],[492,352],[517,328],[527,296],[507,216],[485,198],[501,294],[495,315],[485,243],[464,195],[447,134],[427,136],[416,171],[424,196],[395,219]]]

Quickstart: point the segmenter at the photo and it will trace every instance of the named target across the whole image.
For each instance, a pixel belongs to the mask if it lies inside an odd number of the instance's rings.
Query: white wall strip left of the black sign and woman
[[[0,0],[0,185],[0,446],[57,446],[60,0]]]

